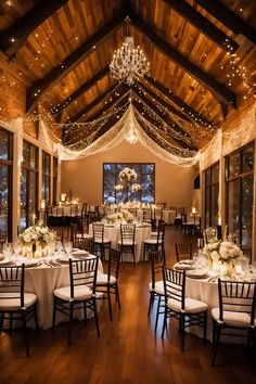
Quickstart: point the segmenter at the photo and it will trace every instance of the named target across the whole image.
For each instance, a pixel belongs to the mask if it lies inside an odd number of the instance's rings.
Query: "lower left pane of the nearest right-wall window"
[[[233,233],[240,230],[240,179],[229,182],[228,193],[228,228]]]

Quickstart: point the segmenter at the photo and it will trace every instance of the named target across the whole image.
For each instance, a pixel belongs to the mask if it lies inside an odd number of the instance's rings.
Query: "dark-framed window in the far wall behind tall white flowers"
[[[132,168],[137,172],[137,180],[133,183],[141,185],[138,192],[115,190],[120,183],[119,172],[124,168]],[[154,203],[155,201],[155,164],[128,164],[128,163],[104,163],[103,164],[103,201],[105,204],[121,203],[126,201],[140,201],[142,203]]]

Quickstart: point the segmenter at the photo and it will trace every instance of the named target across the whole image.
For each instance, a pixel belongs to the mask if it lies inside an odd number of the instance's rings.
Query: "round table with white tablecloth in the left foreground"
[[[37,295],[38,324],[44,330],[52,327],[53,291],[71,284],[68,264],[54,267],[46,265],[46,263],[56,260],[59,257],[60,255],[33,259],[41,263],[41,265],[36,268],[29,267],[25,269],[25,292]],[[18,257],[15,260],[24,263],[25,266],[31,261],[25,257]],[[103,267],[100,259],[98,272],[103,273]],[[76,316],[81,319],[84,313],[81,310],[78,310]],[[90,317],[90,313],[88,317]],[[56,312],[56,322],[64,321],[67,321],[67,317],[61,312]],[[30,327],[30,324],[34,327],[34,320],[29,321],[28,327]]]

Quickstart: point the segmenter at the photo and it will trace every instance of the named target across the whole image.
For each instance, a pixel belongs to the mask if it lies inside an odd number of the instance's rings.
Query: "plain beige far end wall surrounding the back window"
[[[88,204],[102,203],[103,163],[155,163],[155,202],[191,208],[194,170],[155,156],[140,143],[121,143],[111,151],[76,161],[62,162],[62,192]]]

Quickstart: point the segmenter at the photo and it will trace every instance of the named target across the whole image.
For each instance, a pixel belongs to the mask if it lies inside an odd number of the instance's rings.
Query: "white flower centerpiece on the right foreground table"
[[[212,239],[208,244],[205,245],[203,253],[212,259],[212,261],[230,263],[236,257],[242,257],[243,252],[240,247],[230,241],[220,241],[218,239]]]

